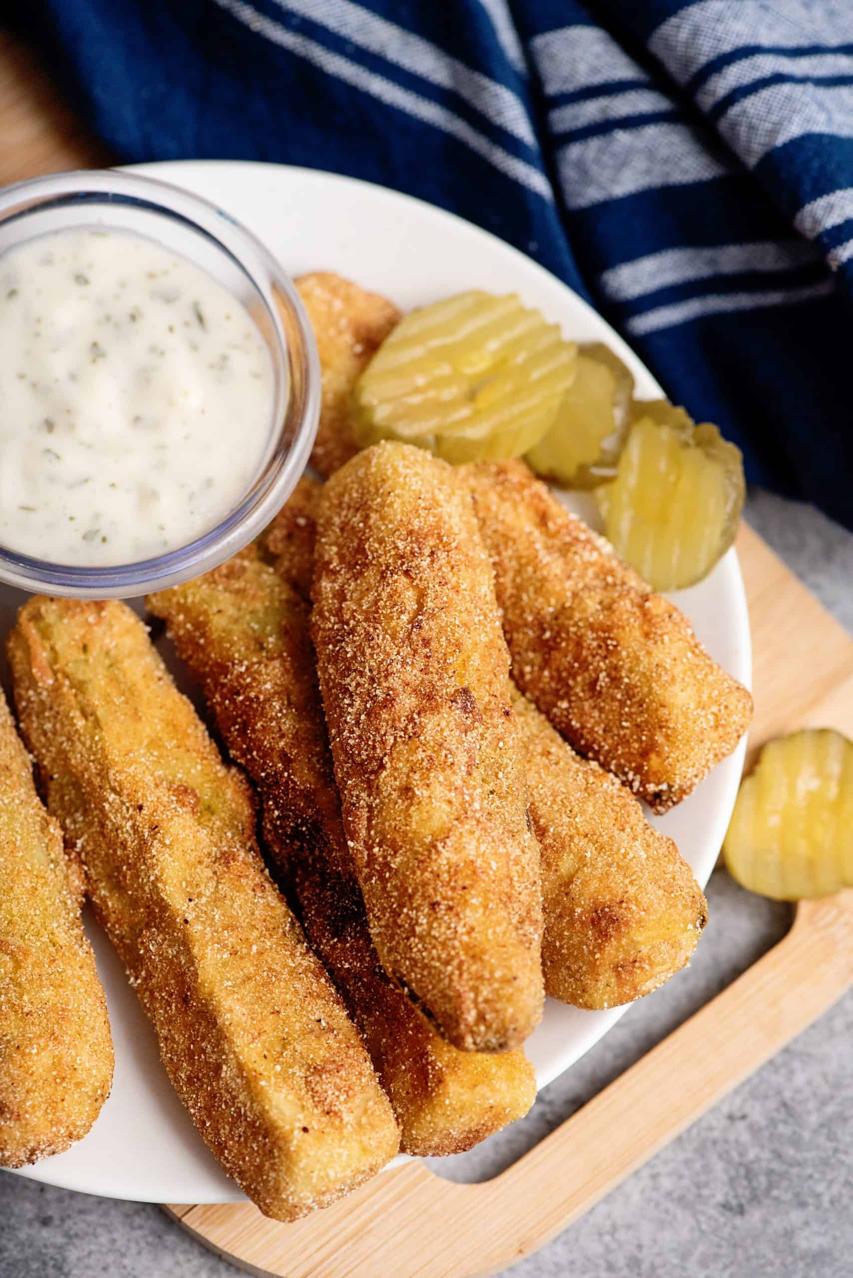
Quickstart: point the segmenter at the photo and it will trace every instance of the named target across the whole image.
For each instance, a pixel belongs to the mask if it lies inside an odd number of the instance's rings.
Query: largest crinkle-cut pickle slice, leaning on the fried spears
[[[358,443],[402,440],[447,461],[516,458],[552,426],[577,345],[515,294],[472,290],[407,314],[352,397]]]

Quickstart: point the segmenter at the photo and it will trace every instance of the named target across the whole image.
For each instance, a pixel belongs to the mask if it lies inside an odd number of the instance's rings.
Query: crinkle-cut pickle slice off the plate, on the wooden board
[[[765,745],[723,855],[738,883],[778,901],[853,887],[853,741],[808,728]]]

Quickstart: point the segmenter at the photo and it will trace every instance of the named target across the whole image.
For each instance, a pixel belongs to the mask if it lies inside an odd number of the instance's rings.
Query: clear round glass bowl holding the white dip
[[[216,527],[152,558],[97,567],[32,558],[0,544],[0,580],[19,589],[126,598],[209,571],[275,518],[305,469],[317,433],[319,360],[290,279],[260,240],[208,201],[114,170],[52,174],[0,192],[0,254],[65,230],[130,231],[188,259],[249,312],[272,363],[264,456],[249,491]]]

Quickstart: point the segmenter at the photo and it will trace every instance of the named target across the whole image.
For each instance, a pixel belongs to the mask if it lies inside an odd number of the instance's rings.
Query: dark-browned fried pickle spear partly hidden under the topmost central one
[[[306,546],[310,575],[313,533]],[[292,556],[273,570],[246,547],[148,606],[166,620],[229,750],[258,785],[267,842],[309,942],[364,1035],[401,1148],[456,1154],[527,1112],[536,1095],[532,1067],[520,1049],[460,1052],[382,970],[343,835],[309,606],[278,575],[285,566],[304,575]]]

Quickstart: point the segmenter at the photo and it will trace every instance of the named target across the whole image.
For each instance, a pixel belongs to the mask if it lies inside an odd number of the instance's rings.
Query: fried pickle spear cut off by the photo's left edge
[[[82,898],[0,691],[0,1167],[68,1149],[110,1094],[110,1021]]]

